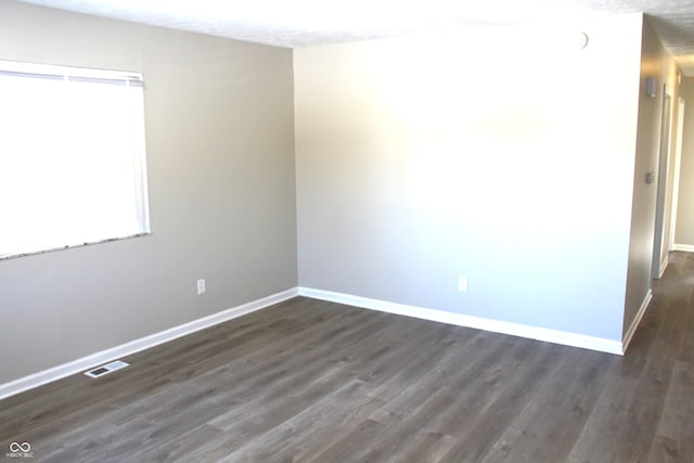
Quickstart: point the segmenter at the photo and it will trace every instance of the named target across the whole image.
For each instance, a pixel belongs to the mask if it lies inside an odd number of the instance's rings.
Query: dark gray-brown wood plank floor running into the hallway
[[[0,460],[694,462],[693,293],[624,358],[297,298],[0,401]]]

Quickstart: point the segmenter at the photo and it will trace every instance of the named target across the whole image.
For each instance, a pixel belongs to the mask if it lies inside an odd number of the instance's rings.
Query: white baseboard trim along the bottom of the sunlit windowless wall
[[[530,326],[520,323],[490,320],[480,317],[465,316],[462,313],[446,312],[442,310],[388,303],[385,300],[351,296],[348,294],[314,290],[310,287],[299,287],[298,291],[299,296],[311,297],[313,299],[327,300],[331,303],[345,304],[348,306],[361,307],[364,309],[378,310],[382,312],[395,313],[399,316],[414,317],[417,319],[490,331],[494,333],[510,334],[513,336],[544,340],[548,343],[562,344],[565,346],[580,347],[583,349],[597,350],[601,352],[616,353],[619,356],[624,355],[622,343],[602,337],[587,336],[570,332]]]

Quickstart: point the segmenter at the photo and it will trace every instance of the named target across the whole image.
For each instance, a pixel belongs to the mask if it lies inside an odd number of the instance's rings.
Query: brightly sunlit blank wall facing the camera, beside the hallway
[[[299,284],[621,340],[641,28],[296,50]]]

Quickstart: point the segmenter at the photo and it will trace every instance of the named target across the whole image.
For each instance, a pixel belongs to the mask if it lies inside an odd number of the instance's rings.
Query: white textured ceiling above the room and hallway
[[[694,76],[694,0],[21,0],[279,47],[388,37],[422,27],[503,25],[645,12]]]

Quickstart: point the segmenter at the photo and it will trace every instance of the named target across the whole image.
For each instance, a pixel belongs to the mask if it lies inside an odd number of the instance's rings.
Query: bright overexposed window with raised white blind
[[[0,258],[150,233],[137,73],[0,61]]]

